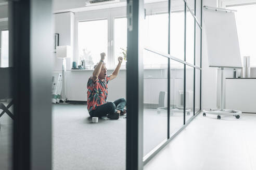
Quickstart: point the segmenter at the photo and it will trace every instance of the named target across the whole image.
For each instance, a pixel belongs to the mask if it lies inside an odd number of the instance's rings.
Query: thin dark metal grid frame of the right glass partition
[[[195,13],[196,13],[196,0],[195,1]],[[200,1],[200,0],[199,0]],[[199,2],[198,1],[198,2]],[[167,146],[169,144],[169,142],[175,137],[177,136],[177,134],[179,134],[196,116],[198,116],[201,112],[201,74],[202,74],[202,0],[200,1],[200,15],[201,15],[201,20],[200,20],[200,24],[196,18],[196,16],[194,15],[193,12],[191,12],[191,10],[189,9],[186,1],[184,0],[184,61],[183,60],[180,60],[178,58],[176,58],[175,56],[172,56],[170,55],[170,9],[171,9],[171,0],[169,0],[169,3],[168,3],[168,10],[169,10],[169,27],[168,27],[168,54],[165,54],[165,53],[162,53],[162,52],[159,52],[159,51],[156,51],[156,50],[152,50],[152,49],[148,49],[148,48],[145,48],[145,50],[148,50],[148,51],[151,51],[153,53],[156,53],[156,54],[159,54],[159,55],[162,55],[166,58],[168,58],[168,134],[167,134],[167,139],[163,140],[162,143],[160,143],[158,146],[156,146],[154,149],[152,149],[148,154],[145,155],[145,157],[143,158],[143,162],[144,162],[144,165],[147,164],[153,157],[155,157],[155,155],[160,152],[165,146]],[[193,64],[190,64],[188,62],[186,62],[186,15],[187,15],[187,9],[189,9],[189,12],[193,15],[194,17],[194,65]],[[198,26],[200,27],[200,67],[196,66],[196,24],[198,24]],[[170,61],[171,60],[174,60],[174,61],[177,61],[179,63],[183,63],[184,64],[184,112],[183,112],[183,125],[181,126],[180,129],[178,129],[175,133],[173,134],[170,134]],[[191,66],[191,67],[194,67],[194,103],[193,103],[193,106],[194,106],[194,109],[193,109],[193,117],[189,118],[187,121],[186,121],[186,114],[185,114],[185,107],[186,107],[186,65],[188,66]],[[199,69],[200,70],[200,109],[195,112],[195,96],[196,96],[196,93],[195,93],[195,83],[196,83],[196,69]]]

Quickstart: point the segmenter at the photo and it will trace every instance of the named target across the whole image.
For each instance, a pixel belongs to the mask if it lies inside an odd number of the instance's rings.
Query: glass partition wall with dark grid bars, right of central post
[[[201,111],[202,1],[168,7],[145,17],[144,165]]]

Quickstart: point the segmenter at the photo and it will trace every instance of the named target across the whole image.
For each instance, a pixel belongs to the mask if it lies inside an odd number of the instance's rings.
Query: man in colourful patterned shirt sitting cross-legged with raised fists
[[[107,102],[108,82],[117,77],[123,58],[118,58],[118,65],[114,72],[107,76],[106,63],[104,63],[106,54],[101,53],[101,60],[94,67],[93,76],[87,82],[87,109],[91,117],[102,117],[108,115],[109,119],[118,119],[124,115],[126,101],[120,98],[114,102]]]

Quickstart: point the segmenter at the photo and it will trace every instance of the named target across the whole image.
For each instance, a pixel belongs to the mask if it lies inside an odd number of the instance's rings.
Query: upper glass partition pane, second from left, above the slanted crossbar
[[[170,54],[181,60],[184,60],[184,19],[184,1],[171,1]]]

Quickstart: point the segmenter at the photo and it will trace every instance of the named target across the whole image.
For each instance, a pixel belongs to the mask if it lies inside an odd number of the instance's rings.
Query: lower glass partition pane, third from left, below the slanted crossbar
[[[186,65],[186,121],[194,115],[194,67]]]

